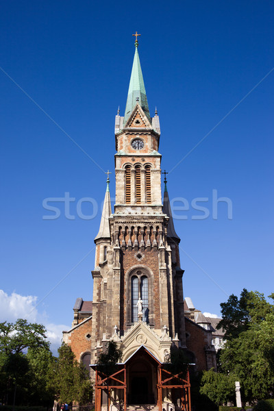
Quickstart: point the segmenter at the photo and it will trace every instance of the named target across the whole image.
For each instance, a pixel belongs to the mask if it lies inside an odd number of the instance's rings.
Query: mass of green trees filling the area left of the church
[[[0,323],[0,401],[49,406],[59,401],[86,403],[92,386],[83,364],[62,345],[53,357],[43,325],[19,319]]]

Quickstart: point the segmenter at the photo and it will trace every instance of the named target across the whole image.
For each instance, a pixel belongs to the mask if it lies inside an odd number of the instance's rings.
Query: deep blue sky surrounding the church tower
[[[114,116],[125,110],[136,30],[162,169],[184,158],[169,197],[209,199],[199,202],[207,219],[175,210],[184,295],[219,314],[243,287],[273,292],[274,3],[1,1],[0,10],[0,321],[32,312],[56,345],[75,299],[92,299],[100,215],[79,218],[77,203],[92,198],[82,212],[96,214],[108,169],[114,197]],[[232,201],[232,219],[226,203],[213,219],[213,190]],[[65,192],[75,218],[53,201],[60,217],[43,219],[53,214],[43,201]]]

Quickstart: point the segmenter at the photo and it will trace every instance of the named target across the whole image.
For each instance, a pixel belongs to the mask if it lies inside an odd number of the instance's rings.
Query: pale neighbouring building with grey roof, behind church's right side
[[[195,308],[190,297],[184,299],[184,313],[188,319],[212,333],[212,345],[214,345],[216,351],[223,347],[225,331],[223,328],[217,329],[221,319],[202,314],[200,310]]]

